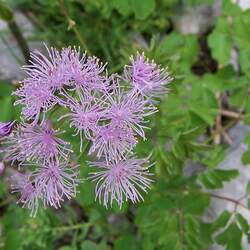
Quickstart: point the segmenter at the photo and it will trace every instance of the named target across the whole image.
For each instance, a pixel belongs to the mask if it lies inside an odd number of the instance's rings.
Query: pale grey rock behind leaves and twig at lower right
[[[240,175],[233,181],[225,183],[222,189],[210,191],[211,193],[233,198],[234,200],[241,199],[245,196],[247,183],[250,180],[250,169],[241,163],[241,156],[247,149],[247,145],[243,143],[243,140],[248,132],[250,132],[250,127],[243,124],[238,124],[229,131],[233,144],[228,149],[227,156],[220,163],[219,168],[238,169]],[[247,205],[247,199],[242,199],[241,203]],[[204,220],[208,222],[214,221],[224,210],[234,211],[235,204],[212,198],[211,206],[207,210]],[[238,206],[237,212],[241,213],[248,220],[248,223],[250,223],[250,212],[247,209]],[[210,250],[221,249],[225,248],[216,244],[210,248]],[[250,249],[250,244],[248,244],[246,237],[243,238],[243,249]]]

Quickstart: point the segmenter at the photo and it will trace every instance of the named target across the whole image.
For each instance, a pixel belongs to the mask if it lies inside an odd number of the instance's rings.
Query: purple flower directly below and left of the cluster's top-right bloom
[[[111,93],[107,93],[110,108],[106,112],[106,118],[112,124],[127,126],[145,139],[144,129],[147,128],[144,118],[152,115],[157,109],[149,104],[146,98],[137,91],[125,92],[119,83]]]

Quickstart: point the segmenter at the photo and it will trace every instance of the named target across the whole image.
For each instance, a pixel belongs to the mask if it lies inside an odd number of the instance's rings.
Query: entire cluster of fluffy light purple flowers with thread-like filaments
[[[47,52],[48,57],[31,54],[24,67],[27,78],[14,93],[22,123],[5,142],[6,160],[22,171],[32,169],[11,178],[19,202],[35,214],[39,204],[58,208],[76,195],[80,179],[70,163],[73,151],[61,139],[63,131],[53,128],[64,122],[80,138],[80,152],[85,140],[91,142],[88,153],[98,160],[90,163],[95,171],[89,179],[96,182],[100,203],[108,207],[116,201],[121,207],[124,201],[143,200],[141,191],[147,192],[152,181],[151,164],[149,157],[137,159],[133,150],[140,138],[146,139],[147,117],[157,112],[152,100],[166,93],[169,74],[139,53],[122,75],[108,75],[106,64],[79,49]],[[58,108],[63,112],[57,117]]]

